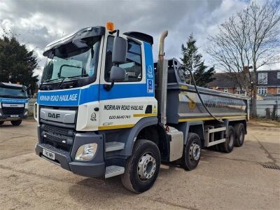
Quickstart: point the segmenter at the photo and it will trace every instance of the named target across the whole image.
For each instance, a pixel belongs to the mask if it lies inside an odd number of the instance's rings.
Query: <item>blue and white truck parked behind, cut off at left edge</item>
[[[12,83],[0,83],[0,125],[10,121],[20,125],[28,116],[27,87]]]

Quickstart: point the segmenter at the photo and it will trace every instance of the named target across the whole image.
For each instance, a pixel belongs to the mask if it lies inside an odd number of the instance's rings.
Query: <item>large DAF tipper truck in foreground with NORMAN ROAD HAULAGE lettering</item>
[[[186,83],[176,59],[158,63],[153,37],[88,27],[46,46],[34,118],[36,154],[81,176],[121,176],[134,193],[153,186],[161,162],[192,170],[201,149],[242,146],[244,97]]]

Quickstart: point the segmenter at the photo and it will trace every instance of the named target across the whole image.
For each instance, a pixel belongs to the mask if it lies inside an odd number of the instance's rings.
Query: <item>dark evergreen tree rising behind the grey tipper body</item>
[[[181,52],[183,57],[180,59],[183,62],[186,79],[190,80],[188,76],[188,70],[190,70],[193,72],[193,77],[195,78],[197,86],[204,87],[207,83],[215,80],[215,78],[213,78],[215,70],[214,67],[207,70],[208,66],[204,65],[202,55],[197,52],[195,43],[196,40],[193,38],[193,34],[190,34],[186,46],[182,44]]]

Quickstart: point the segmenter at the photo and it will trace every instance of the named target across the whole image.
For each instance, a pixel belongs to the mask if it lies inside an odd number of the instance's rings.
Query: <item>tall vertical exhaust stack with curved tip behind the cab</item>
[[[165,38],[168,31],[163,31],[158,43],[158,80],[156,99],[158,100],[158,119],[160,123],[166,125],[166,104],[167,104],[167,71],[168,61],[165,59]]]

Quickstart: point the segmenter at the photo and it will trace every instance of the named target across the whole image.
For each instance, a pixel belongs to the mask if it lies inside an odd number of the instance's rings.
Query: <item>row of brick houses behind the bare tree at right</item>
[[[216,80],[207,84],[208,88],[222,92],[250,95],[250,92],[247,93],[245,88],[240,88],[227,73],[215,73],[214,77]],[[259,95],[280,95],[280,70],[258,71],[257,80]]]

